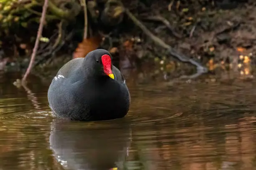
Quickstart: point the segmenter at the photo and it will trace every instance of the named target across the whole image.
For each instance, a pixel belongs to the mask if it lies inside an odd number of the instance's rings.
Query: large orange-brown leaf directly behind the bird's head
[[[84,39],[78,44],[77,49],[73,53],[73,58],[85,57],[89,52],[96,50],[100,46],[101,41],[102,37],[100,35]]]

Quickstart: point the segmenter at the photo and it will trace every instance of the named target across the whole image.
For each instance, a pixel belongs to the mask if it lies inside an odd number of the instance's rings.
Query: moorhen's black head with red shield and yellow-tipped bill
[[[111,60],[112,57],[107,50],[93,50],[84,58],[85,69],[90,69],[93,74],[108,75],[110,78],[114,79]]]

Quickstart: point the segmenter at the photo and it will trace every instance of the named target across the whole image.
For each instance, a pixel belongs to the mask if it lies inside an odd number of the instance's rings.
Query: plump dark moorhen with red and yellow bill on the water
[[[97,49],[67,62],[48,90],[53,115],[70,120],[110,120],[124,117],[130,93],[107,50]]]

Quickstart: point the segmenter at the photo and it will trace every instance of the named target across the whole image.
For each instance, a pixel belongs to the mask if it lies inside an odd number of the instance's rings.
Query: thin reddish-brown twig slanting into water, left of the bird
[[[41,18],[40,18],[40,24],[39,24],[39,28],[38,28],[38,32],[37,32],[37,36],[36,36],[35,46],[33,48],[33,52],[32,52],[31,59],[30,59],[28,68],[26,70],[26,73],[22,78],[22,83],[24,83],[24,84],[25,84],[26,78],[28,77],[28,75],[29,75],[29,73],[30,73],[30,71],[33,67],[33,62],[34,62],[35,57],[36,57],[36,51],[38,49],[39,39],[42,35],[42,31],[43,31],[43,27],[44,27],[44,20],[45,20],[47,6],[48,6],[48,0],[44,0],[43,12],[42,12],[42,15],[41,15]]]

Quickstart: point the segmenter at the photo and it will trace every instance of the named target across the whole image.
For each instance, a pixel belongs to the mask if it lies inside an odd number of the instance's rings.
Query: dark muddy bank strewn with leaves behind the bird
[[[88,13],[95,15],[89,16],[89,42],[82,42],[83,10],[73,21],[46,20],[43,32],[46,41],[42,39],[40,42],[35,74],[49,75],[50,70],[56,70],[72,59],[80,42],[84,49],[103,47],[110,50],[122,68],[147,70],[148,65],[154,65],[156,69],[150,69],[152,75],[164,74],[166,77],[173,77],[174,71],[177,76],[195,72],[194,66],[175,60],[165,48],[153,42],[124,13],[125,8],[154,35],[174,50],[201,62],[210,73],[226,70],[235,71],[235,75],[251,76],[253,73],[256,2],[252,0],[166,0],[161,3],[133,0],[123,1],[124,8],[118,3],[108,4],[109,0],[90,2],[95,2],[95,8],[89,9]],[[113,20],[105,14],[116,18]],[[97,20],[92,20],[95,18]],[[18,32],[12,28],[2,32],[1,70],[23,71],[27,67],[37,26],[32,23]],[[61,39],[58,38],[60,32]],[[29,40],[28,36],[31,37]]]

